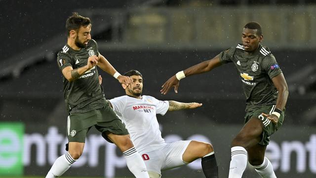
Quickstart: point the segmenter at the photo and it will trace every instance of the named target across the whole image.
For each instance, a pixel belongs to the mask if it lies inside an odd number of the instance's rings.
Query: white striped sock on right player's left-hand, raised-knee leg
[[[246,169],[247,161],[248,154],[245,148],[241,146],[232,147],[232,160],[228,178],[241,178]]]

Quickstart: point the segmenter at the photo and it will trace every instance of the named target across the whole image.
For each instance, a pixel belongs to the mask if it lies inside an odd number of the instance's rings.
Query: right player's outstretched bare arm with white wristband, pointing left
[[[180,74],[180,79],[179,79],[179,76],[177,77],[178,74],[168,79],[167,82],[165,82],[161,86],[162,89],[160,89],[160,92],[161,94],[166,94],[169,91],[169,89],[171,89],[171,87],[174,87],[174,91],[177,93],[181,78],[188,77],[191,75],[201,74],[204,72],[209,72],[213,68],[218,67],[221,64],[222,62],[220,61],[219,55],[217,55],[213,59],[203,61],[197,65],[191,66],[188,69],[184,70],[182,74]]]

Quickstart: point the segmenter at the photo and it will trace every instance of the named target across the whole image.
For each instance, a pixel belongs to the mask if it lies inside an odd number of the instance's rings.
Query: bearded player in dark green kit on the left
[[[110,107],[99,85],[97,66],[119,83],[129,86],[129,77],[120,75],[98,51],[91,39],[91,22],[73,13],[66,21],[67,44],[57,55],[63,74],[64,98],[69,111],[67,120],[68,148],[56,159],[46,178],[66,172],[82,154],[87,132],[94,126],[102,136],[123,152],[128,169],[136,178],[149,178],[145,163],[136,151],[118,115]]]

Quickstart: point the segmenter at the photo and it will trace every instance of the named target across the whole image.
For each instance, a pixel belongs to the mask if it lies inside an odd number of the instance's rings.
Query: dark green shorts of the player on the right
[[[277,124],[272,123],[272,121],[270,121],[266,117],[262,116],[262,114],[261,114],[261,113],[271,114],[274,111],[275,107],[276,107],[276,105],[263,106],[260,109],[257,109],[254,111],[249,111],[246,113],[244,123],[247,123],[251,118],[255,117],[255,118],[259,119],[262,122],[262,124],[264,125],[264,131],[263,131],[262,136],[261,136],[261,141],[259,142],[259,144],[261,144],[261,145],[268,145],[269,141],[270,141],[270,135],[274,134],[282,126],[285,109],[282,111],[280,118],[278,118]]]

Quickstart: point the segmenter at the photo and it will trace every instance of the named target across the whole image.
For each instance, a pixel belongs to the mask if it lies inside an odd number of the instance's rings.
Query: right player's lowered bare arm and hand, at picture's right
[[[278,91],[276,109],[283,111],[288,97],[288,88],[283,74],[280,73],[279,75],[274,77],[272,79],[272,82],[276,86],[276,89]],[[262,115],[270,119],[274,124],[278,122],[278,117],[275,114],[262,113]]]

